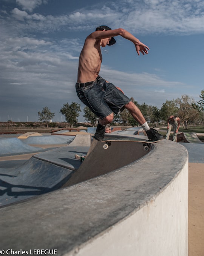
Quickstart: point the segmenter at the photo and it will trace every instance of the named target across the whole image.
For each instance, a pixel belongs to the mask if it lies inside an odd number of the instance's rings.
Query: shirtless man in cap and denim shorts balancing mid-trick
[[[79,57],[76,92],[79,99],[99,117],[94,137],[99,141],[103,140],[105,125],[113,121],[113,113],[118,115],[126,108],[144,128],[150,140],[161,140],[163,136],[148,126],[141,111],[130,98],[125,96],[120,88],[107,82],[99,75],[102,63],[100,47],[113,45],[116,42],[114,36],[122,36],[133,42],[138,55],[140,52],[143,55],[147,54],[149,50],[148,46],[145,46],[139,39],[123,28],[111,30],[107,26],[100,26],[85,39]]]

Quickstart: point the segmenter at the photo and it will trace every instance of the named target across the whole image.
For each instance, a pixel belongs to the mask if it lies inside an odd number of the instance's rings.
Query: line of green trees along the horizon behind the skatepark
[[[145,103],[139,104],[131,98],[131,101],[141,110],[144,118],[148,123],[158,124],[166,123],[167,119],[171,115],[179,116],[184,128],[187,129],[187,125],[191,124],[203,124],[204,122],[204,90],[199,95],[200,100],[195,102],[193,97],[188,95],[182,95],[181,98],[173,99],[171,101],[166,100],[160,109],[155,106],[147,105]],[[65,116],[65,120],[72,127],[78,122],[81,109],[80,104],[71,102],[71,104],[63,104],[60,109],[60,113]],[[97,124],[98,117],[88,108],[83,109],[83,117],[85,121],[91,123],[92,126]],[[48,122],[53,119],[55,113],[51,113],[48,107],[44,107],[42,112],[38,112],[39,121]],[[130,115],[128,110],[124,110],[119,115],[115,115],[111,125],[126,125],[126,126],[138,126],[138,123]]]

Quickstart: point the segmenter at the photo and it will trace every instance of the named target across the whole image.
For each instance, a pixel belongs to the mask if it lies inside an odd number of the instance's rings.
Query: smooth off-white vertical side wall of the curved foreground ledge
[[[141,209],[67,256],[187,256],[188,161]]]

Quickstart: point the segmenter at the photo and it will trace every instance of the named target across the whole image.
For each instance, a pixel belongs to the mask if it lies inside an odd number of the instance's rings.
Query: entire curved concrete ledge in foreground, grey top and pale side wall
[[[163,140],[130,165],[2,207],[0,214],[3,250],[188,255],[188,153]]]

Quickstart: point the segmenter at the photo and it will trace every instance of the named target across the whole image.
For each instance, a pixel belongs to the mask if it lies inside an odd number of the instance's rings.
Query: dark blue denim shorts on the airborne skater
[[[79,88],[77,85],[76,83],[79,99],[101,119],[109,116],[112,112],[118,115],[131,101],[116,86],[100,76],[86,87]]]

